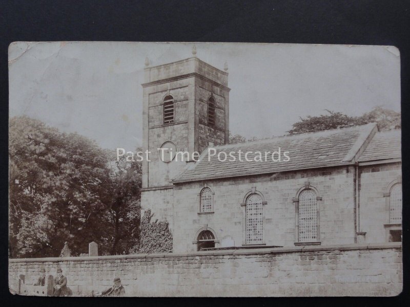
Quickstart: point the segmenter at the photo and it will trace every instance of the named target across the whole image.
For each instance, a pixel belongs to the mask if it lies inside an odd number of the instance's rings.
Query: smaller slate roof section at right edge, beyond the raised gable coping
[[[401,130],[379,131],[360,155],[359,162],[401,159]]]

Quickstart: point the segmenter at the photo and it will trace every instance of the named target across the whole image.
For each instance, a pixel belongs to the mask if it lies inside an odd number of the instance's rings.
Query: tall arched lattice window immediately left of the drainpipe
[[[299,242],[318,241],[317,195],[313,189],[305,189],[299,194],[298,236]]]

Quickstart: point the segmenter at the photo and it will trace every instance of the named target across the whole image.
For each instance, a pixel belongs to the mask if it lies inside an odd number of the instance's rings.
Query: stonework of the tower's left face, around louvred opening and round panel
[[[165,69],[163,73],[171,72]],[[191,133],[190,137],[189,131],[192,130],[190,125],[194,125],[193,113],[190,114],[195,103],[191,93],[194,91],[194,83],[194,77],[191,77],[144,88],[143,149],[151,151],[151,162],[148,163],[147,159],[142,161],[142,187],[145,189],[170,186],[170,180],[187,166],[180,157],[179,162],[162,162],[158,148],[171,141],[177,151],[188,151],[191,147],[193,151],[190,143],[194,136]],[[163,98],[168,94],[175,101],[175,123],[163,125]],[[151,209],[155,214],[154,219],[167,220],[172,227],[172,190],[142,190],[141,210],[146,209]]]

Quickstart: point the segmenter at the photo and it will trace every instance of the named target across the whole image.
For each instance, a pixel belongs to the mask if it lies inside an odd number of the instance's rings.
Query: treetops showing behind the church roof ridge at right
[[[401,127],[400,113],[384,109],[380,106],[358,117],[347,116],[340,112],[326,111],[329,114],[300,118],[300,121],[294,123],[292,129],[288,131],[289,135],[364,125],[371,122],[377,122],[380,130]]]

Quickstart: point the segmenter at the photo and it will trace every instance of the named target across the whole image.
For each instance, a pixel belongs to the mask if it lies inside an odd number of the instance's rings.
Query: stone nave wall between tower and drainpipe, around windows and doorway
[[[293,246],[298,242],[294,198],[305,182],[317,189],[321,245],[355,242],[353,168],[323,168],[273,175],[177,184],[174,187],[173,251],[196,251],[196,235],[211,228],[219,247],[223,240],[244,244],[244,197],[255,187],[263,205],[263,238],[267,246]],[[199,193],[207,184],[214,194],[214,212],[199,213]],[[222,244],[223,246],[223,244]]]

